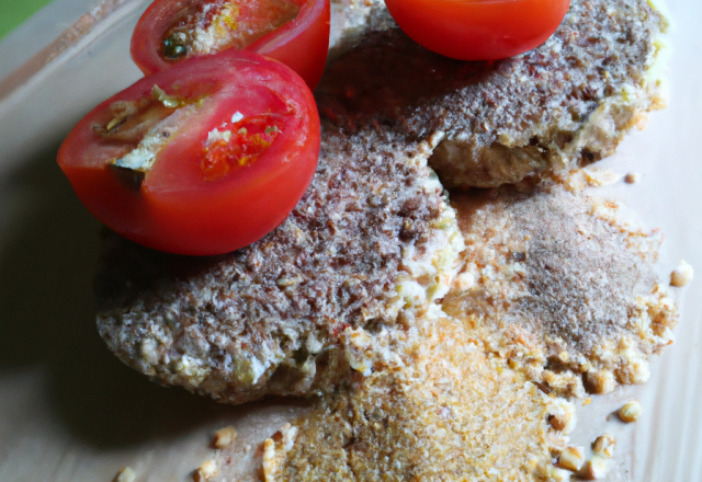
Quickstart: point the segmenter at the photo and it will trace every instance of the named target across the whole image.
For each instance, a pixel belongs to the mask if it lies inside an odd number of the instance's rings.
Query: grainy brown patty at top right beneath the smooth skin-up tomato
[[[407,37],[381,1],[350,3],[336,22],[346,51],[316,91],[321,112],[410,139],[443,135],[430,159],[446,187],[492,187],[568,171],[611,154],[663,106],[654,65],[667,21],[647,0],[573,0],[541,47],[464,62]],[[344,42],[346,41],[346,42]]]

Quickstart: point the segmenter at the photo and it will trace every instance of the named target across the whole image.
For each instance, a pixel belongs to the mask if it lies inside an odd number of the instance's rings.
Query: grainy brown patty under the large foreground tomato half
[[[346,328],[409,322],[448,290],[462,238],[430,151],[326,126],[310,188],[254,244],[196,259],[106,236],[100,334],[133,368],[223,402],[322,391],[350,369]]]

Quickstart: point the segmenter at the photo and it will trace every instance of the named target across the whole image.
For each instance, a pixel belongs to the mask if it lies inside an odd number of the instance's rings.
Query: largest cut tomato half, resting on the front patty
[[[146,77],[70,131],[58,164],[86,207],[161,251],[260,239],[305,193],[319,154],[312,92],[290,68],[227,50]]]

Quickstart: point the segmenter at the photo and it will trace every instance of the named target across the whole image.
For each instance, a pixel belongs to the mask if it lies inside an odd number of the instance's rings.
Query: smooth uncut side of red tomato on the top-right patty
[[[385,0],[397,24],[430,50],[495,60],[536,48],[558,28],[570,0]]]

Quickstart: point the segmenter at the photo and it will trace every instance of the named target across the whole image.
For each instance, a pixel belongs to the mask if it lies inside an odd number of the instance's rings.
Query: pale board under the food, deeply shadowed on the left
[[[251,444],[304,403],[241,408],[167,390],[122,366],[94,329],[91,279],[99,223],[55,163],[72,125],[140,77],[131,31],[147,0],[55,0],[0,43],[0,481],[192,480],[213,456],[212,433],[234,424]],[[670,103],[600,162],[639,172],[598,195],[630,206],[666,234],[660,273],[684,259],[702,274],[702,3],[668,0],[673,20]],[[88,12],[88,13],[86,13]],[[695,60],[697,59],[697,60]],[[604,428],[620,438],[608,480],[702,480],[702,283],[681,296],[677,343],[629,387],[579,411],[576,443]],[[643,420],[608,414],[636,398]]]

